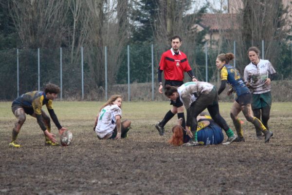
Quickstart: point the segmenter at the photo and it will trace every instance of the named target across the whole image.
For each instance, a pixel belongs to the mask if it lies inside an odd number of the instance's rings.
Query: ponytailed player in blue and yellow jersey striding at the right
[[[263,132],[265,135],[265,142],[268,142],[273,136],[273,132],[267,130],[262,122],[254,117],[251,106],[252,95],[243,82],[237,69],[229,65],[229,61],[232,59],[234,59],[232,53],[220,54],[216,59],[216,66],[220,70],[221,78],[221,86],[218,90],[218,95],[220,95],[225,89],[227,83],[232,86],[228,91],[228,96],[230,96],[232,92],[235,92],[236,94],[235,101],[231,108],[230,117],[237,131],[237,141],[244,141],[240,119],[238,118],[238,114],[242,111],[247,121],[253,123],[256,129],[260,129],[260,131]]]

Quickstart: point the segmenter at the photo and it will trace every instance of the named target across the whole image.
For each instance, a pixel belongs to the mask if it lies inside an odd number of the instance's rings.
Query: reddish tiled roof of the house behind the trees
[[[203,14],[199,24],[203,28],[209,27],[210,31],[238,29],[236,14]]]

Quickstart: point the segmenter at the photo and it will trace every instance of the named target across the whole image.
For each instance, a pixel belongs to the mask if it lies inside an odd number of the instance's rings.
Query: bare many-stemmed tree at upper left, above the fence
[[[65,0],[10,0],[9,10],[26,47],[60,46],[66,33]]]

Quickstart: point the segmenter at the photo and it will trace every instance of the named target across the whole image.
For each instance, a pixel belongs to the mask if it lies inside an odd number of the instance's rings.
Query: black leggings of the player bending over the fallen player
[[[188,119],[191,119],[191,124],[187,124],[187,126],[191,126],[191,131],[197,131],[197,117],[206,108],[212,119],[226,132],[229,129],[229,126],[219,113],[218,93],[215,88],[213,88],[212,91],[208,94],[201,94],[201,96],[196,101],[194,101],[191,107],[188,109],[189,112],[187,113],[187,121],[189,121]]]

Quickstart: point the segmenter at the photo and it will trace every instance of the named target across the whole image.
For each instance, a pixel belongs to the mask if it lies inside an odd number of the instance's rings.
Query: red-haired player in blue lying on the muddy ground
[[[200,145],[220,144],[224,135],[222,129],[211,117],[198,116],[198,142]],[[182,118],[178,120],[178,124],[172,128],[172,137],[168,140],[170,144],[180,146],[189,141],[190,137],[182,127]]]

